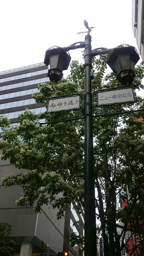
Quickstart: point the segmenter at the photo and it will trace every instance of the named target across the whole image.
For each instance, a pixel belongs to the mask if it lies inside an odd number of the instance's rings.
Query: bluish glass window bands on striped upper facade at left
[[[30,85],[32,87],[32,85],[34,85],[34,84],[36,84],[35,87],[37,87],[38,84],[40,84],[41,82],[49,81],[49,78],[47,77],[47,73],[48,73],[47,67],[44,70],[35,70],[33,72],[27,71],[28,69],[38,68],[41,66],[46,67],[44,65],[44,63],[38,63],[38,64],[30,65],[30,66],[25,66],[25,67],[21,67],[21,68],[16,68],[16,69],[0,72],[0,75],[8,74],[8,76],[9,76],[8,78],[0,79],[0,91],[1,91],[0,100],[3,100],[3,103],[0,104],[0,111],[2,112],[2,110],[4,110],[4,109],[7,109],[7,111],[9,111],[9,109],[11,109],[11,111],[12,111],[12,108],[17,109],[17,111],[15,111],[15,112],[11,112],[11,113],[7,112],[6,114],[2,114],[2,115],[6,116],[10,120],[13,118],[18,118],[18,116],[25,111],[25,110],[22,110],[22,111],[20,110],[20,107],[22,107],[22,106],[27,106],[27,108],[29,108],[36,115],[39,114],[40,112],[42,113],[42,112],[46,111],[45,106],[42,108],[38,108],[38,107],[32,108],[31,107],[33,104],[34,104],[34,106],[37,106],[35,100],[32,98],[32,94],[34,94],[35,92],[38,92],[38,88],[29,89],[29,87],[28,87]],[[20,74],[21,70],[26,70],[26,71],[25,72],[23,71],[24,74]],[[14,72],[19,72],[19,74],[14,75]],[[30,79],[32,79],[32,76],[38,76],[38,75],[40,76],[42,74],[45,74],[44,78],[38,78],[35,80],[24,81],[25,78],[26,78],[26,80],[28,80],[28,77],[30,77]],[[42,76],[44,76],[44,75],[42,75]],[[16,79],[20,79],[20,82],[14,83],[14,80],[16,80]],[[21,82],[21,80],[23,80],[24,82]],[[11,84],[2,86],[3,82],[10,83],[9,81],[11,81]],[[28,88],[28,89],[22,90],[23,86],[27,86],[26,88]],[[16,90],[18,90],[18,92],[15,91],[15,88],[16,88]],[[20,88],[20,89],[18,89],[18,88]],[[11,89],[10,93],[7,92],[7,90],[9,90],[9,89]],[[26,95],[29,96],[29,99],[26,99]],[[4,102],[4,100],[10,99],[10,98],[15,98],[15,97],[21,97],[21,98],[20,98],[20,100],[12,99],[12,100],[9,100],[10,102]],[[45,120],[43,120],[42,122],[45,122]]]

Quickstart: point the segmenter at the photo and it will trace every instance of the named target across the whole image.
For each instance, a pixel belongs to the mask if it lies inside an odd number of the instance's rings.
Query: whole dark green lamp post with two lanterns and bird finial
[[[85,94],[84,94],[84,238],[85,256],[97,255],[96,246],[96,206],[95,206],[95,184],[94,184],[94,153],[93,153],[93,116],[92,116],[92,57],[112,52],[108,59],[108,65],[117,74],[118,80],[123,85],[130,85],[134,79],[134,65],[139,56],[134,47],[122,47],[115,49],[91,47],[91,28],[86,21],[84,25],[88,28],[85,42],[77,42],[71,46],[47,50],[44,63],[48,66],[48,77],[52,82],[58,82],[62,78],[62,70],[66,70],[70,63],[67,51],[77,48],[85,48]],[[81,32],[80,32],[81,33]]]

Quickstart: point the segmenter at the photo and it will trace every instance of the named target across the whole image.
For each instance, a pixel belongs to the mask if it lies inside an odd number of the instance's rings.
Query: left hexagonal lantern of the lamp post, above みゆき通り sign
[[[70,64],[70,54],[63,48],[47,50],[44,64],[48,66],[48,77],[52,82],[59,82],[62,79],[62,71],[67,70]]]

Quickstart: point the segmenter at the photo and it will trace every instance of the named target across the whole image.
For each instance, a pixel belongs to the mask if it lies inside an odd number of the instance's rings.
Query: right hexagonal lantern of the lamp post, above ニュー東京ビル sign
[[[115,48],[108,58],[107,64],[117,74],[117,78],[123,85],[132,84],[134,77],[134,66],[140,59],[133,46]]]

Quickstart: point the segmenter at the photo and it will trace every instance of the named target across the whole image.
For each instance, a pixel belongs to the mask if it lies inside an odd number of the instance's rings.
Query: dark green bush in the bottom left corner
[[[0,223],[0,255],[13,256],[15,242],[10,238],[11,226],[8,223]]]

